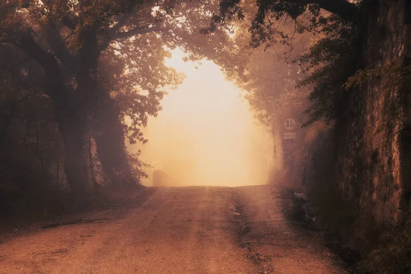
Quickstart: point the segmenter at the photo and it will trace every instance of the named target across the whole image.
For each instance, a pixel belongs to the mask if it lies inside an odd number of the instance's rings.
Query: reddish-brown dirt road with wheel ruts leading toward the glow
[[[104,214],[6,240],[0,273],[346,273],[266,186],[160,188]]]

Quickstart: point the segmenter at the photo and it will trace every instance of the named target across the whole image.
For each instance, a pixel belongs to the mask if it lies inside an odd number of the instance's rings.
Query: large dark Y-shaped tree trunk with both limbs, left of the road
[[[15,45],[23,49],[44,69],[47,75],[47,95],[53,100],[55,120],[64,142],[64,171],[73,195],[82,204],[90,201],[95,192],[95,177],[92,173],[90,151],[90,120],[91,99],[90,90],[97,89],[96,54],[90,54],[90,49],[97,48],[97,40],[85,40],[80,57],[82,58],[77,74],[77,92],[75,98],[69,96],[64,84],[60,65],[55,57],[42,49],[31,35],[23,35]],[[93,89],[92,89],[93,88]]]

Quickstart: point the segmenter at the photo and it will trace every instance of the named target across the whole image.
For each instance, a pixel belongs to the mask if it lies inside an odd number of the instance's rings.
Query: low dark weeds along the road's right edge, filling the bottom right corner
[[[377,223],[363,218],[345,227],[332,223],[310,212],[312,204],[295,196],[294,190],[283,190],[284,207],[288,220],[300,229],[310,229],[323,235],[325,246],[345,263],[353,274],[408,274],[411,273],[411,218],[408,214],[399,223]],[[287,212],[287,210],[284,210]],[[334,212],[336,215],[338,213]],[[338,219],[338,217],[335,217]],[[341,215],[340,218],[343,218]],[[335,225],[335,223],[334,223]]]

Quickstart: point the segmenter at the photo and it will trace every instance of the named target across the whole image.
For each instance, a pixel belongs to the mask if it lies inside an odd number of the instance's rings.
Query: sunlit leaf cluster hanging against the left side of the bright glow
[[[182,73],[166,66],[169,56],[162,41],[147,34],[146,39],[125,41],[100,58],[100,92],[108,92],[119,106],[125,135],[132,144],[147,142],[140,129],[147,126],[149,116],[160,112],[164,88],[178,86],[184,79]]]

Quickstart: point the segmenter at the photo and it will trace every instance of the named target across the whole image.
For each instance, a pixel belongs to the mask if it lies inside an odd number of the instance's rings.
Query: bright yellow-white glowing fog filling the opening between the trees
[[[266,184],[273,143],[240,98],[242,91],[212,62],[184,62],[173,51],[167,64],[186,79],[164,97],[158,117],[149,119],[149,142],[132,148],[153,166],[143,184],[152,185],[153,170],[169,175],[169,186]]]

